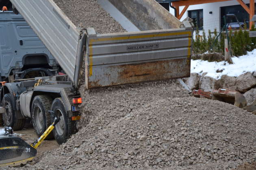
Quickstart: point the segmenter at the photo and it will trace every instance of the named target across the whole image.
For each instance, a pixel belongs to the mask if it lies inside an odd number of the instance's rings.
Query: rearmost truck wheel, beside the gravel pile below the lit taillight
[[[52,130],[55,140],[58,144],[62,144],[72,135],[72,119],[68,117],[67,111],[61,98],[56,98],[52,102],[52,111],[56,116],[60,117],[59,123]],[[51,116],[53,122],[54,117]]]

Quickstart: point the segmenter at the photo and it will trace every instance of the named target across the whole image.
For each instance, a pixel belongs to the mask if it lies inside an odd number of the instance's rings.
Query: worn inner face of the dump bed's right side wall
[[[136,28],[141,31],[180,28],[182,24],[155,0],[97,1],[128,32]]]

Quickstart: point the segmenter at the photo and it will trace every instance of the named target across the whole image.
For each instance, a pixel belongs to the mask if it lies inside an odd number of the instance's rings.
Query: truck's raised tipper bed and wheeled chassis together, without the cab
[[[53,136],[65,142],[77,132],[80,79],[91,89],[190,76],[193,26],[155,0],[98,0],[128,31],[113,34],[76,27],[53,0],[11,2],[66,73],[2,83],[0,110],[14,130],[31,118],[40,136],[53,122],[52,110],[60,118]]]

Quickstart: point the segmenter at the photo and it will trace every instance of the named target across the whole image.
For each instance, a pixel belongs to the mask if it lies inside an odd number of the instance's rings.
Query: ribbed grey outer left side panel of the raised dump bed
[[[11,0],[74,81],[80,33],[53,0]]]

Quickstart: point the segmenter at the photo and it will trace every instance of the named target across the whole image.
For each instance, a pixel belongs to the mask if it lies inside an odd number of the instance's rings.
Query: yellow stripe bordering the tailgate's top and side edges
[[[128,40],[128,39],[139,39],[139,38],[153,38],[153,37],[163,37],[163,36],[178,36],[178,35],[188,35],[189,36],[189,52],[188,58],[191,55],[191,31],[187,32],[169,32],[162,34],[149,34],[149,35],[137,35],[137,36],[123,36],[123,37],[114,37],[114,38],[96,38],[90,39],[89,41],[89,77],[93,74],[93,43],[101,41],[111,41],[111,40]]]

